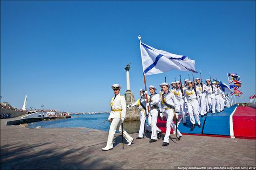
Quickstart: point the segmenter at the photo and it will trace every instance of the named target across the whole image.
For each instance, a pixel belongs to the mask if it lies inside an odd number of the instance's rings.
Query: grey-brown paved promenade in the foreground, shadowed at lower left
[[[162,139],[135,139],[121,147],[116,133],[113,150],[102,151],[108,132],[86,128],[28,129],[0,120],[1,170],[174,169],[177,166],[255,166],[256,140],[183,135],[162,147]],[[163,135],[162,135],[163,137]]]

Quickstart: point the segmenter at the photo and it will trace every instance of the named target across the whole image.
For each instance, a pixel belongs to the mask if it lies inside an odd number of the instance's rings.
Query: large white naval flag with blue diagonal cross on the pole
[[[195,60],[191,60],[187,56],[157,50],[143,43],[140,46],[144,75],[159,74],[174,69],[196,72]]]

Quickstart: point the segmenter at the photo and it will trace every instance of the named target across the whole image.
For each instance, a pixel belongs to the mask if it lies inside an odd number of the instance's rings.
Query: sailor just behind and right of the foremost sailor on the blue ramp
[[[206,116],[207,111],[206,111],[206,105],[205,105],[205,89],[207,89],[208,87],[205,84],[201,85],[200,82],[200,78],[195,78],[196,84],[196,91],[198,91],[198,95],[200,98],[197,98],[197,101],[200,105],[200,109],[201,109],[201,117]]]

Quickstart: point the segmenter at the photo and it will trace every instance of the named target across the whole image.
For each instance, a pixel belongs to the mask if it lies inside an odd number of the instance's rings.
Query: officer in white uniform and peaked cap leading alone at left
[[[111,112],[108,117],[108,121],[112,120],[112,122],[109,128],[107,146],[105,148],[102,148],[102,150],[113,149],[113,139],[114,139],[116,128],[118,128],[120,133],[122,131],[121,123],[123,123],[125,119],[126,102],[125,102],[124,96],[119,93],[121,88],[122,88],[121,85],[118,85],[118,84],[112,85],[112,89],[114,90],[115,97],[111,99],[111,103],[110,103]],[[123,136],[128,142],[127,146],[130,146],[134,139],[130,135],[128,135],[128,133],[124,129],[123,129]]]

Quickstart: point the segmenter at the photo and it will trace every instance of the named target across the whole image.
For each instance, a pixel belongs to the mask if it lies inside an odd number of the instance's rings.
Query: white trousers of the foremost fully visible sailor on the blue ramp
[[[200,125],[200,119],[199,119],[199,114],[198,114],[198,101],[196,99],[194,100],[188,100],[188,111],[189,111],[189,116],[190,116],[190,122],[192,124],[195,124],[195,120],[198,125]],[[193,111],[195,114],[195,118],[193,115]]]

